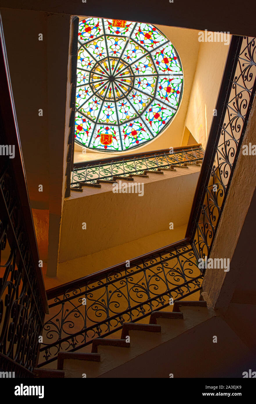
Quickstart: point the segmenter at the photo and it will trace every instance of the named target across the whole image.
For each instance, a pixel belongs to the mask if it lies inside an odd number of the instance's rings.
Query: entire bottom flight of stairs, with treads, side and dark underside
[[[214,338],[217,337],[216,343]],[[91,353],[59,352],[57,369],[34,369],[36,378],[227,377],[252,351],[205,301],[176,301],[153,311],[149,324],[124,323],[120,339],[97,338]]]

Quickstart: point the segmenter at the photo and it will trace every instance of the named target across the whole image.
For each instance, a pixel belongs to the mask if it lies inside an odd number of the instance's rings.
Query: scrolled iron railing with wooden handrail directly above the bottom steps
[[[201,288],[203,275],[188,240],[48,290],[41,360],[107,337]],[[42,362],[41,366],[46,364]]]

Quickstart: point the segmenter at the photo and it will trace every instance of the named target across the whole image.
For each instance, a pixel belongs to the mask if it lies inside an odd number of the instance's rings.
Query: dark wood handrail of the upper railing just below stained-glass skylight
[[[179,146],[179,147],[173,147],[173,151],[178,151],[178,150],[188,150],[191,147],[200,147],[201,143],[196,143],[195,145],[186,145],[186,146]],[[170,149],[159,149],[159,150],[153,150],[153,151],[147,151],[147,152],[141,152],[141,153],[133,153],[133,154],[123,154],[121,156],[113,156],[111,158],[107,157],[107,158],[100,158],[97,160],[88,160],[88,161],[81,161],[81,162],[77,162],[73,164],[73,169],[76,168],[83,168],[84,166],[87,165],[97,165],[97,164],[107,164],[107,163],[111,163],[114,162],[115,160],[123,160],[123,159],[132,159],[133,157],[149,157],[149,156],[153,156],[154,153],[165,153],[165,152],[169,152]]]

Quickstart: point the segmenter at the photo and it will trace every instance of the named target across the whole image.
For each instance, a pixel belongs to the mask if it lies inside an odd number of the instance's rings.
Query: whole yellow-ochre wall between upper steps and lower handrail
[[[113,194],[111,184],[85,187],[83,197],[72,191],[64,203],[57,278],[46,276],[46,289],[182,240],[198,175],[196,166],[150,174],[143,197]]]

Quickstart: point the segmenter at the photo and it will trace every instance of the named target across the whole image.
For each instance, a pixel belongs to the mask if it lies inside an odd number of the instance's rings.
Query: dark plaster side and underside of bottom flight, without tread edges
[[[170,374],[174,378],[241,378],[245,370],[252,369],[255,352],[224,318],[204,307],[181,306],[180,311],[183,319],[157,319],[161,332],[129,330],[127,349],[99,345],[100,362],[65,359],[65,377],[81,377],[85,372],[89,378],[169,379]]]

